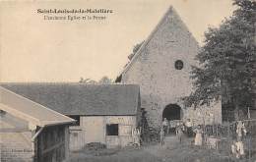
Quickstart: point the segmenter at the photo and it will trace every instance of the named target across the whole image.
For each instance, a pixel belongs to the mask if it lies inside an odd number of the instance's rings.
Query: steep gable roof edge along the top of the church
[[[179,18],[178,14],[174,10],[172,6],[170,6],[167,10],[167,12],[163,15],[163,17],[160,19],[159,24],[157,27],[153,29],[153,31],[150,33],[149,37],[144,41],[144,43],[141,45],[139,50],[135,53],[135,55],[132,57],[131,61],[124,67],[123,71],[118,75],[117,78],[120,78],[122,74],[125,74],[130,67],[134,64],[134,62],[138,59],[138,57],[142,54],[142,51],[147,47],[148,43],[151,41],[151,39],[154,37],[155,33],[160,29],[161,25],[164,23],[164,21],[169,17],[169,16],[174,16],[177,20],[179,20],[179,23],[182,25],[183,28],[185,28],[188,32],[189,29],[186,27],[186,25],[182,22],[182,20]],[[190,33],[190,32],[189,32]],[[190,33],[191,34],[191,33]],[[192,34],[191,34],[192,35]],[[192,39],[197,42],[197,40],[191,36]],[[197,42],[198,44],[198,42]],[[199,45],[198,45],[199,46]]]

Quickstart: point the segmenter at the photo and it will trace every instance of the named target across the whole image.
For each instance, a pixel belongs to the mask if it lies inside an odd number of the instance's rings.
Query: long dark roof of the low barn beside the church
[[[139,85],[2,83],[2,86],[64,115],[136,115]]]

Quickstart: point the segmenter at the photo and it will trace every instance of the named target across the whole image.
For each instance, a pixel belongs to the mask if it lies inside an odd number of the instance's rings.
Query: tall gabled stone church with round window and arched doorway
[[[170,7],[117,78],[117,82],[140,85],[141,106],[150,125],[159,126],[163,118],[222,122],[220,102],[194,110],[181,101],[192,91],[189,77],[198,51],[197,41]]]

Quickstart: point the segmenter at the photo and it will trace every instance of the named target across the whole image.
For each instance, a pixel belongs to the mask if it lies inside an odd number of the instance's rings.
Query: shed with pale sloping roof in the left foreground
[[[0,161],[62,162],[75,120],[0,86]]]

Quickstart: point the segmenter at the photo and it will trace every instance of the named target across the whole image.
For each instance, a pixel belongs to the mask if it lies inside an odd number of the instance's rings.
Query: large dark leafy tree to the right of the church
[[[215,100],[232,103],[234,112],[252,105],[256,1],[233,0],[237,9],[220,27],[210,27],[205,44],[192,67],[194,91],[183,100],[187,106],[210,104]]]

